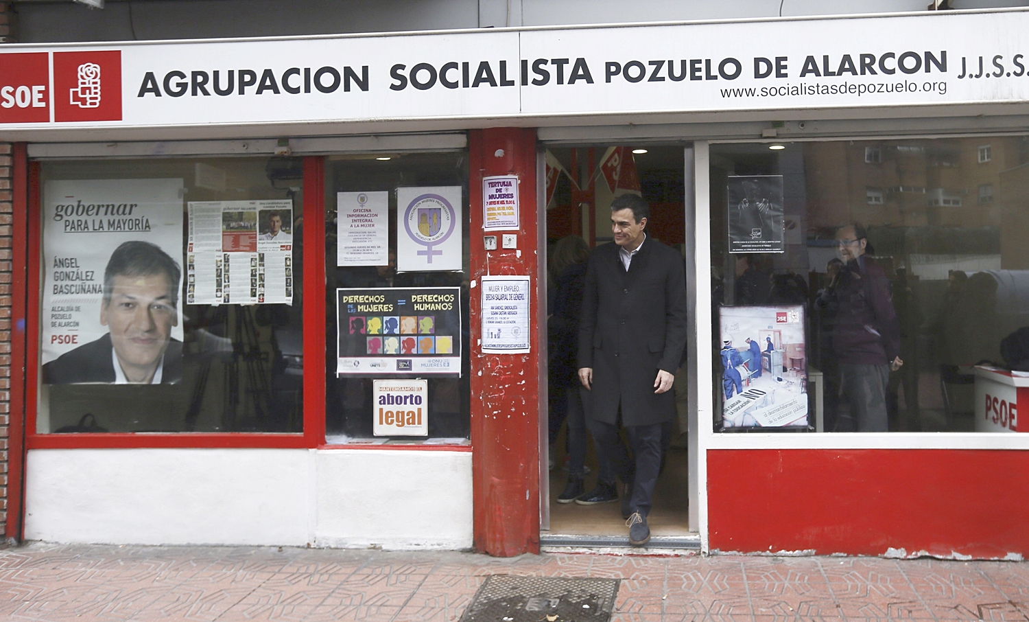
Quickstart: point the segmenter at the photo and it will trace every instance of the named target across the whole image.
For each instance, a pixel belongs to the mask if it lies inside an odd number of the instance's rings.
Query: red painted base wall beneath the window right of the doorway
[[[1029,451],[710,450],[713,551],[1029,557]]]

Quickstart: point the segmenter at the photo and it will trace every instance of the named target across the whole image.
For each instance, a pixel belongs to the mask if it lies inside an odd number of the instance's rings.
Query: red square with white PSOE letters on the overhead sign
[[[0,54],[0,124],[50,120],[45,51]]]

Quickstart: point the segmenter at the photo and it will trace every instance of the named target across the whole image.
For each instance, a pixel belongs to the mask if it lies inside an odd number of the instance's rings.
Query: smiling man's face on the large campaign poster
[[[111,298],[100,311],[122,367],[156,368],[179,323],[166,274],[114,277]]]

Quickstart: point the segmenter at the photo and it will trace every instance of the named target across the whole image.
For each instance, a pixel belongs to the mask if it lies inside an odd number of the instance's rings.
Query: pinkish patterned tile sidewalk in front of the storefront
[[[490,574],[619,578],[625,622],[1029,621],[1025,562],[46,544],[0,550],[0,620],[452,622]]]

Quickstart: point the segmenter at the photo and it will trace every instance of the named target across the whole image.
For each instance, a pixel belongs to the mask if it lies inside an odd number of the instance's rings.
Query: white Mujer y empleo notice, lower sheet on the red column
[[[529,351],[528,276],[484,276],[483,351]]]

